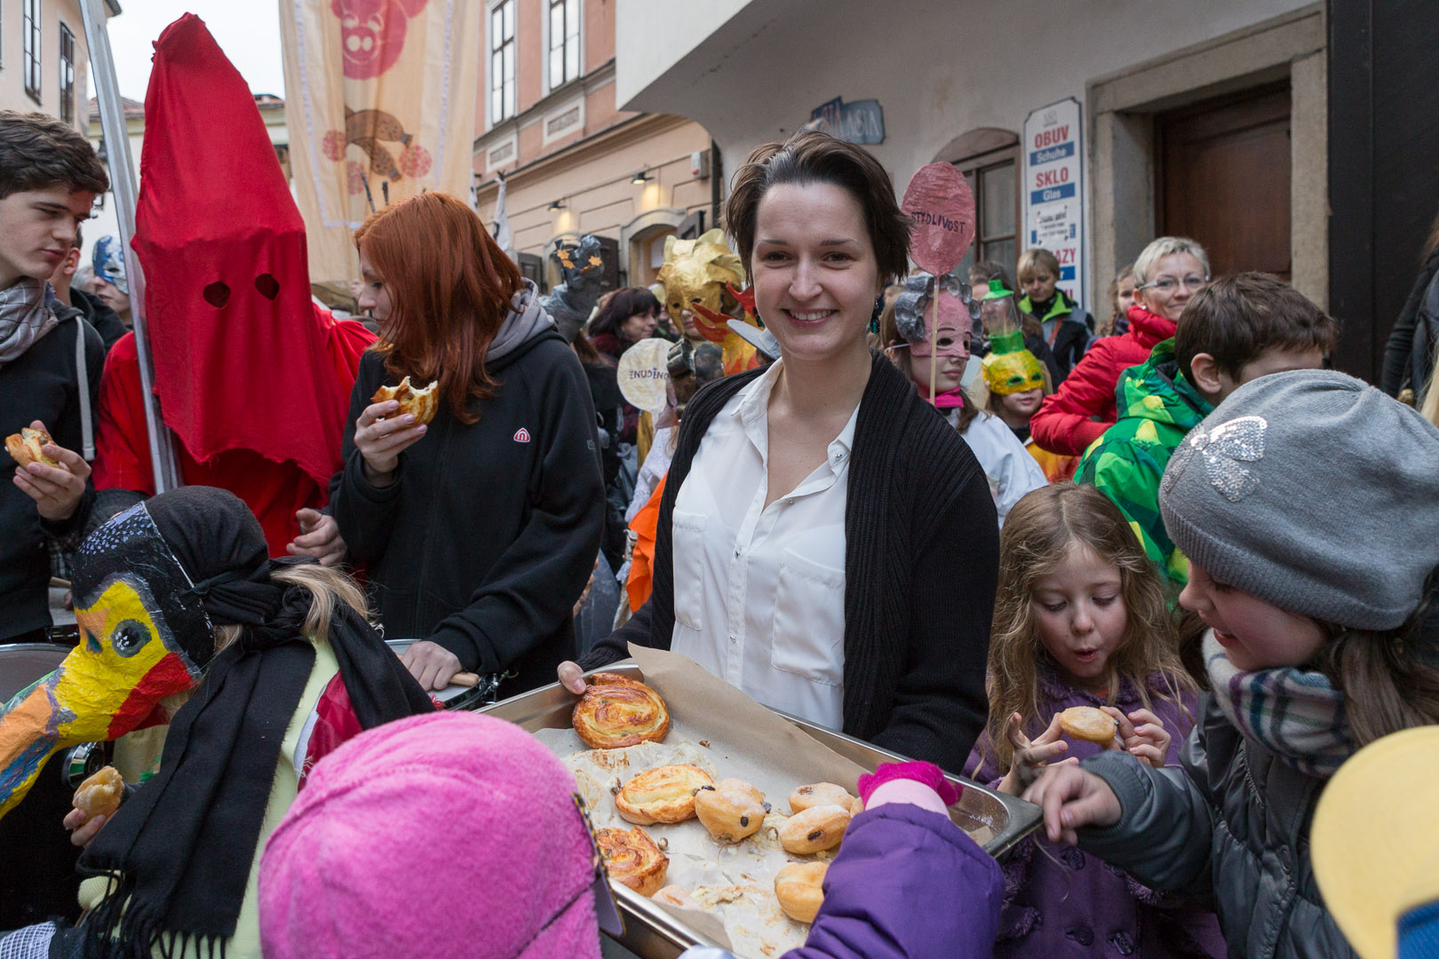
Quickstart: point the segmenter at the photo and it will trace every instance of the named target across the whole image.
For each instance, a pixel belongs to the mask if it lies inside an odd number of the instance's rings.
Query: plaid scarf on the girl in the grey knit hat
[[[1354,753],[1344,694],[1322,673],[1235,669],[1213,631],[1204,634],[1204,661],[1225,717],[1285,765],[1328,779]]]

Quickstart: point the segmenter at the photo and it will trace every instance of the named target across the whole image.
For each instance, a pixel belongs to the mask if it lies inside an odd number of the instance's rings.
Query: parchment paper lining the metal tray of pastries
[[[689,762],[715,779],[754,784],[773,812],[764,830],[737,845],[715,841],[698,820],[642,827],[656,843],[668,844],[666,884],[682,886],[707,909],[652,901],[740,956],[773,959],[804,945],[809,926],[780,909],[774,874],[786,863],[827,860],[832,854],[790,855],[780,848],[777,827],[790,812],[789,795],[796,786],[835,782],[855,792],[865,769],[692,660],[639,646],[629,648],[645,682],[669,707],[665,742],[591,751],[573,729],[540,729],[534,735],[574,772],[597,828],[632,828],[616,811],[610,789],[616,779],[629,782],[656,766]]]

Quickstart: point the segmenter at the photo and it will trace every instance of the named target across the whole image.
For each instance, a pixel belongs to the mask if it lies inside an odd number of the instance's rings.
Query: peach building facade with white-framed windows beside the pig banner
[[[591,233],[607,285],[645,285],[666,236],[714,224],[705,128],[616,106],[614,16],[614,0],[485,0],[475,206],[494,226],[504,177],[512,250],[543,288],[555,240]]]

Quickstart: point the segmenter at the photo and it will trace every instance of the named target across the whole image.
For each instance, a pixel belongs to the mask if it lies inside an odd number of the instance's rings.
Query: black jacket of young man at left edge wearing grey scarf
[[[75,338],[85,336],[85,388],[91,416],[99,405],[99,374],[105,347],[99,334],[81,321],[79,311],[56,303],[62,316],[24,354],[0,365],[0,437],[19,433],[39,420],[66,450],[81,451],[81,387],[75,368]],[[94,420],[92,420],[94,421]],[[94,487],[68,523],[40,520],[35,500],[14,485],[14,460],[0,453],[0,643],[50,625],[50,554],[46,535],[62,536],[78,526],[91,509]]]

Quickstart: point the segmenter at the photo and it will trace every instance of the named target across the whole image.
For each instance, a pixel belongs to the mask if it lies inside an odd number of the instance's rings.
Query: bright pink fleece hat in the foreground
[[[266,959],[599,959],[574,778],[530,733],[430,713],[321,761],[260,860]]]

